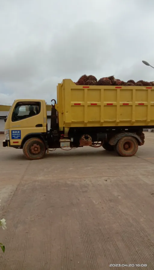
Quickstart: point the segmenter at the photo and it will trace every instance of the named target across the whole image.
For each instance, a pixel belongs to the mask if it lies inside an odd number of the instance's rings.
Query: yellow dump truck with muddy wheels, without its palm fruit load
[[[49,149],[103,147],[132,156],[144,144],[143,128],[154,128],[154,87],[81,86],[65,79],[47,125],[45,100],[17,99],[5,119],[3,146],[41,159]],[[69,148],[68,148],[69,147]]]

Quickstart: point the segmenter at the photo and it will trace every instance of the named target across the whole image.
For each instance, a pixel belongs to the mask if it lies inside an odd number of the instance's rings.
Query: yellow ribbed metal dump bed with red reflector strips
[[[57,86],[60,127],[154,125],[154,87],[82,86],[65,79]]]

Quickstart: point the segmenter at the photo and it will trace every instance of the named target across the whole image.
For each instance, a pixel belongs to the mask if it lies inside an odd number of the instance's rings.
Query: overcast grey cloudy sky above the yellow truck
[[[64,78],[154,80],[152,0],[0,0],[0,103],[50,103]]]

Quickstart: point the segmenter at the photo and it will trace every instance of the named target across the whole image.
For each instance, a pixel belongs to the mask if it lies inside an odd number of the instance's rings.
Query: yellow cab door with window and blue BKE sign
[[[20,146],[30,133],[46,132],[42,100],[18,100],[10,116],[10,145]]]

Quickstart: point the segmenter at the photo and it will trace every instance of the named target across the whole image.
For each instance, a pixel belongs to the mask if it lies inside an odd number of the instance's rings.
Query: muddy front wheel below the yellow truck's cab
[[[30,138],[23,145],[23,154],[27,159],[42,159],[45,155],[46,147],[39,138]]]

